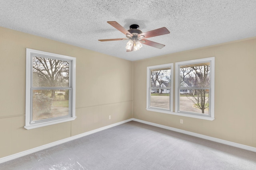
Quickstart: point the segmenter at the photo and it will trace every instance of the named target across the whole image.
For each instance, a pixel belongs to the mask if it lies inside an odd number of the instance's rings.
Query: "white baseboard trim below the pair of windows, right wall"
[[[242,145],[242,144],[239,144],[239,143],[225,141],[225,140],[222,140],[222,139],[218,139],[218,138],[214,138],[214,137],[209,137],[209,136],[206,136],[206,135],[201,135],[201,134],[193,133],[193,132],[189,132],[189,131],[184,131],[184,130],[181,130],[181,129],[176,129],[174,127],[160,125],[160,124],[156,124],[156,123],[152,123],[152,122],[148,122],[148,121],[143,121],[143,120],[140,120],[140,119],[132,118],[132,120],[133,121],[138,121],[140,123],[144,123],[144,124],[160,127],[160,128],[163,128],[163,129],[168,129],[168,130],[171,130],[171,131],[175,131],[175,132],[179,132],[179,133],[184,133],[186,135],[191,135],[191,136],[194,136],[194,137],[199,137],[199,138],[206,139],[206,140],[209,140],[209,141],[214,141],[214,142],[222,143],[222,144],[225,144],[225,145],[230,145],[232,147],[237,147],[237,148],[241,148],[241,149],[245,149],[245,150],[250,150],[252,152],[256,152],[256,148],[255,147],[250,147],[250,146]]]

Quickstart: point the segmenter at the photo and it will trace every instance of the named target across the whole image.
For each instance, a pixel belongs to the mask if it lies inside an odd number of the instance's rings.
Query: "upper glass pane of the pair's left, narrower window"
[[[171,69],[151,70],[151,87],[168,87],[171,86]]]

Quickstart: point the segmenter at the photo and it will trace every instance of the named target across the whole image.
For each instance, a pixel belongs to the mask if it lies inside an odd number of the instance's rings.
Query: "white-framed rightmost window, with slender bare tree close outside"
[[[214,119],[214,57],[175,65],[175,112]]]

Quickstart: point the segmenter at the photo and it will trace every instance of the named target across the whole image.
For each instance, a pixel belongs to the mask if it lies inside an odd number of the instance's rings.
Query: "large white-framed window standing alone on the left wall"
[[[26,49],[26,129],[72,121],[76,58]]]

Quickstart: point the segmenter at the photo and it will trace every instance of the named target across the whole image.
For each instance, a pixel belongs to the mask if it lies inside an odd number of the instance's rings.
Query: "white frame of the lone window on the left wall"
[[[69,93],[69,115],[62,117],[54,117],[49,119],[44,119],[44,121],[32,121],[32,77],[33,77],[33,61],[32,57],[34,55],[43,56],[46,58],[60,59],[63,61],[70,62],[70,93]],[[43,88],[43,87],[42,87]],[[62,123],[67,121],[72,121],[76,119],[76,58],[66,55],[59,55],[54,53],[48,53],[44,51],[38,51],[34,49],[26,49],[26,121],[24,128],[34,129],[38,127],[43,127],[47,125],[53,125],[56,123]]]

